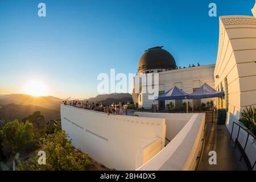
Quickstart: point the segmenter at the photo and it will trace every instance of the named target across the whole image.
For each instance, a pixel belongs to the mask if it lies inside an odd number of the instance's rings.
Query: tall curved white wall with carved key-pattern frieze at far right
[[[220,16],[218,56],[214,69],[215,87],[228,81],[224,108],[228,106],[226,127],[232,131],[233,122],[239,123],[246,106],[256,106],[256,19],[254,16]],[[225,90],[224,90],[225,91]],[[228,97],[228,100],[226,98]],[[227,105],[225,105],[227,101]],[[240,123],[241,125],[241,123]],[[233,139],[237,136],[234,126]],[[240,131],[238,140],[244,146],[247,134]],[[252,138],[246,146],[246,155],[253,166],[256,143]],[[256,167],[254,168],[254,170]]]

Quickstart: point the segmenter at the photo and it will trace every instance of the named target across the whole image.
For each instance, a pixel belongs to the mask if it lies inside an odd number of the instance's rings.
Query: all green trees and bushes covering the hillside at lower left
[[[46,164],[38,163],[39,151],[46,152]],[[60,122],[45,121],[40,111],[0,126],[0,160],[11,164],[17,153],[16,170],[107,169],[73,148]]]

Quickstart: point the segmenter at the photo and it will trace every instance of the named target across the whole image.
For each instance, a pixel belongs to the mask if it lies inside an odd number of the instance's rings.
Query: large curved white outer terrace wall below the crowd
[[[109,116],[61,105],[61,127],[75,148],[108,168],[134,170],[164,147],[164,118]]]

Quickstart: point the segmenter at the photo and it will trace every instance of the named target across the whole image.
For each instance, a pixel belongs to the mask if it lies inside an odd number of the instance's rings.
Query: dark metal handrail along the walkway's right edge
[[[246,127],[244,127],[244,126],[242,126],[242,125],[239,125],[237,122],[233,121],[232,131],[231,131],[230,139],[229,139],[229,140],[232,139],[232,134],[233,134],[233,130],[234,130],[234,124],[236,124],[236,125],[238,126],[237,138],[235,139],[235,146],[234,146],[234,149],[235,149],[236,146],[237,146],[237,142],[239,142],[239,141],[238,141],[238,137],[239,137],[239,134],[240,134],[240,128],[242,128],[244,131],[247,132],[247,138],[246,138],[245,146],[243,147],[242,155],[241,155],[241,158],[240,158],[240,160],[239,160],[239,161],[241,162],[243,156],[244,156],[244,155],[247,156],[246,153],[245,153],[245,148],[246,148],[246,145],[247,145],[247,142],[248,142],[248,139],[249,139],[249,135],[251,135],[251,137],[254,138],[254,139],[253,139],[253,140],[254,140],[253,143],[254,143],[255,140],[256,140],[256,136],[255,136],[253,133],[251,133],[251,131],[250,131],[249,129],[247,129]],[[250,163],[250,162],[249,162],[249,163]],[[256,164],[256,160],[255,160],[253,166],[251,167],[251,170],[254,168],[255,164]]]

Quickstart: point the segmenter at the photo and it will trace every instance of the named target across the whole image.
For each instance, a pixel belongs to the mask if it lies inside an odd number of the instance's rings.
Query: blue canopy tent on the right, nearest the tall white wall
[[[211,88],[209,85],[204,83],[200,89],[196,90],[196,92],[189,94],[188,99],[198,99],[198,98],[213,98],[213,97],[222,97],[224,96],[223,91],[217,91]]]

